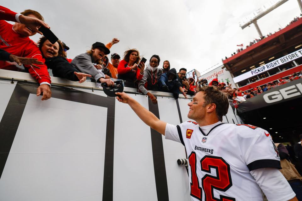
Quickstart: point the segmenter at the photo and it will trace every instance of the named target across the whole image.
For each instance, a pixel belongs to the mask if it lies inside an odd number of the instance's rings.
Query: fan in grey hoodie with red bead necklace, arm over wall
[[[141,81],[138,84],[138,89],[144,94],[148,95],[152,100],[153,104],[157,104],[156,97],[151,94],[148,90],[158,91],[158,79],[163,73],[161,68],[157,68],[160,62],[158,55],[153,55],[150,60],[147,68],[144,70],[144,75]]]

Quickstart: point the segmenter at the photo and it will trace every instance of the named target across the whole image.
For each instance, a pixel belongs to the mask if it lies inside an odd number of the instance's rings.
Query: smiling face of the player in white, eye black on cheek
[[[188,103],[189,106],[189,113],[188,118],[193,119],[194,121],[198,122],[204,118],[206,110],[204,107],[204,92],[199,91],[194,97],[193,100]]]

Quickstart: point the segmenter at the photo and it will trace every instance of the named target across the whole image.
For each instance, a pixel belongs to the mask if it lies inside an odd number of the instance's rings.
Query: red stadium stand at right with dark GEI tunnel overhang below
[[[262,38],[222,61],[243,92],[302,71],[302,18]],[[282,84],[239,104],[238,115],[269,131],[276,142],[297,143],[302,133],[301,82]]]

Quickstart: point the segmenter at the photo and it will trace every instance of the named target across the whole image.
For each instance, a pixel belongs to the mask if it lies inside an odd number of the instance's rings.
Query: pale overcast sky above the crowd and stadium
[[[70,47],[68,58],[84,53],[96,42],[107,44],[120,39],[110,49],[121,56],[128,48],[137,48],[148,61],[159,55],[162,67],[197,69],[202,72],[221,58],[230,57],[236,45],[248,45],[259,38],[254,25],[242,30],[239,22],[269,3],[269,0],[2,0],[15,12],[33,9],[61,41]],[[262,34],[284,28],[301,13],[297,0],[288,0],[258,20]],[[31,39],[37,41],[40,35]]]

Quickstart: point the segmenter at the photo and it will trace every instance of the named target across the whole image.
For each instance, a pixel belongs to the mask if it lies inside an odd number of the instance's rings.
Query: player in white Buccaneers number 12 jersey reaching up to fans
[[[188,103],[188,118],[195,122],[179,125],[159,120],[124,92],[116,94],[165,139],[185,146],[192,200],[263,201],[263,193],[269,201],[298,200],[278,170],[279,153],[270,134],[248,124],[222,123],[229,102],[217,87],[199,86]]]

